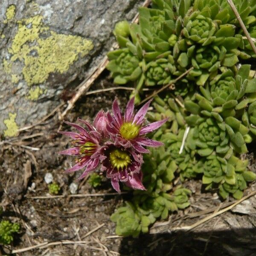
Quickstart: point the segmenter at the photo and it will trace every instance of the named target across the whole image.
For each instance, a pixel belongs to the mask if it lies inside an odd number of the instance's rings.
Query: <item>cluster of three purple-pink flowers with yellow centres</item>
[[[143,146],[163,145],[163,143],[146,138],[145,134],[156,130],[166,122],[162,120],[143,126],[149,104],[150,102],[147,102],[135,114],[134,98],[132,98],[127,104],[123,117],[117,99],[115,99],[112,107],[113,116],[110,113],[99,111],[93,125],[79,119],[87,129],[75,123],[66,122],[79,131],[79,133],[61,132],[74,139],[74,147],[61,151],[60,154],[77,157],[76,164],[67,172],[85,168],[79,177],[82,179],[99,167],[102,172],[106,172],[117,192],[120,192],[119,181],[133,189],[145,189],[142,184],[143,155],[141,153],[149,153],[149,151]]]

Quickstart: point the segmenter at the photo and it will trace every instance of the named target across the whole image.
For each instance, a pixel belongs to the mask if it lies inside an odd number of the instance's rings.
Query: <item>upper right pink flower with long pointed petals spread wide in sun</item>
[[[145,137],[145,134],[156,130],[167,121],[167,119],[163,119],[143,126],[150,102],[151,101],[145,103],[134,115],[133,97],[126,106],[125,115],[122,116],[117,99],[114,100],[112,106],[113,116],[107,113],[107,130],[111,133],[115,145],[122,145],[124,148],[133,147],[140,153],[149,153],[149,150],[145,149],[143,146],[159,147],[163,145],[163,143],[159,141]]]

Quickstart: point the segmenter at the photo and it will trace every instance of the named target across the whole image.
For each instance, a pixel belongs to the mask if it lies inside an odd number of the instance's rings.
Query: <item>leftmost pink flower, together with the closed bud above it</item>
[[[65,122],[68,125],[75,127],[79,133],[73,131],[61,131],[61,134],[70,136],[74,139],[74,147],[68,148],[59,154],[75,155],[76,164],[68,169],[66,172],[76,172],[82,168],[85,168],[83,174],[79,179],[84,178],[88,173],[92,172],[99,166],[99,158],[97,157],[97,151],[101,148],[102,135],[106,134],[106,117],[103,111],[100,111],[92,126],[89,122],[78,119],[79,122],[84,123],[87,126],[87,130],[71,122]],[[97,130],[98,128],[98,130]]]

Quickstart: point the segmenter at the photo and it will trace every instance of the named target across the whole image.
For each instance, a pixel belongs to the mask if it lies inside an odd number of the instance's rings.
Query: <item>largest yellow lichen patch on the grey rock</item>
[[[93,42],[76,35],[58,34],[42,23],[36,15],[19,20],[18,30],[8,49],[10,63],[24,63],[23,76],[28,85],[47,80],[49,73],[66,72],[70,65],[93,49]]]

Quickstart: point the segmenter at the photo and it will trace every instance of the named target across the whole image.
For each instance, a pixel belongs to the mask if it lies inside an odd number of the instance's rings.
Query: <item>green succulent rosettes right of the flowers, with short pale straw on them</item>
[[[247,182],[256,179],[241,157],[256,139],[255,102],[256,79],[250,77],[250,65],[241,65],[236,74],[223,69],[186,97],[157,96],[156,112],[148,117],[168,118],[154,137],[165,143],[181,180],[201,173],[206,190],[239,199]]]

